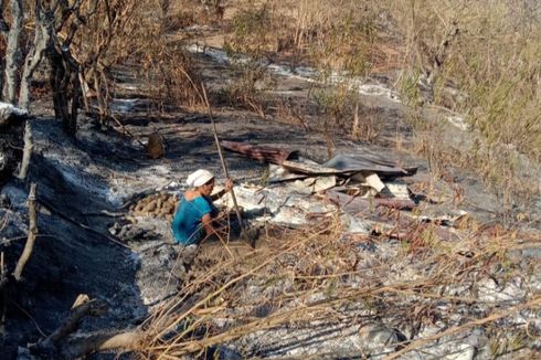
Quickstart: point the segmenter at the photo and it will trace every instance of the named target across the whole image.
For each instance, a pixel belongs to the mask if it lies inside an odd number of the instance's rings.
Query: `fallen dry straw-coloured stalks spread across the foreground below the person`
[[[464,230],[458,241],[448,242],[433,226],[407,226],[409,237],[393,245],[383,237],[340,240],[339,222],[331,221],[265,237],[257,250],[236,243],[229,251],[220,244],[203,247],[192,279],[141,326],[141,354],[201,354],[251,333],[266,337],[284,325],[295,331],[323,320],[359,328],[383,320],[409,333],[402,352],[474,326],[494,331],[495,341],[503,341],[512,329],[522,345],[530,343],[523,327],[490,324],[508,324],[505,319],[519,310],[539,309],[539,294],[524,286],[517,301],[491,301],[479,298],[478,282],[491,277],[501,288],[528,284],[539,264],[511,254],[539,248],[539,237],[487,227]],[[367,251],[371,243],[382,250]],[[458,313],[471,321],[456,320]],[[439,330],[417,337],[425,326]],[[255,350],[245,351],[251,357]]]

